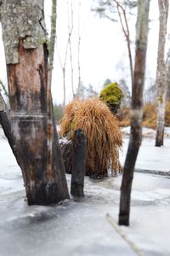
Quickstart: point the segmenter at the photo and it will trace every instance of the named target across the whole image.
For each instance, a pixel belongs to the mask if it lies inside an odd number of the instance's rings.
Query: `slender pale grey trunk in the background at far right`
[[[165,44],[167,34],[168,0],[158,0],[160,12],[159,42],[156,69],[156,105],[157,105],[157,125],[156,125],[156,147],[163,145],[165,105],[167,95],[167,79],[165,64]]]

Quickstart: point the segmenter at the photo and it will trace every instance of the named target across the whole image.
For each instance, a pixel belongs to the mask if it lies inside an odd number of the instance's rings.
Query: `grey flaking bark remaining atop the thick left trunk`
[[[2,1],[1,22],[6,63],[19,62],[20,39],[25,49],[36,49],[47,42],[43,1]]]

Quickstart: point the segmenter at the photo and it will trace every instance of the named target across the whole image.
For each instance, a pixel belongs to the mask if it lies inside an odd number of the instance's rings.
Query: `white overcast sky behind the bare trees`
[[[62,69],[59,64],[59,57],[64,62],[65,48],[68,38],[68,15],[66,0],[58,0],[58,17],[57,17],[57,44],[54,55],[54,73],[52,93],[55,103],[63,101],[63,79]],[[78,84],[77,73],[77,47],[78,47],[78,24],[80,24],[81,36],[81,78],[82,83],[86,86],[92,84],[94,90],[99,91],[105,79],[118,81],[126,79],[129,89],[130,73],[128,66],[127,44],[122,33],[119,22],[113,23],[107,19],[100,19],[97,15],[90,12],[92,0],[84,0],[81,8],[78,7],[78,0],[72,0],[74,26],[72,33],[72,58],[74,66],[74,86],[75,90]],[[45,0],[46,24],[50,27],[51,5],[49,0]],[[78,17],[80,14],[80,23]],[[147,52],[147,73],[145,87],[150,85],[150,79],[154,80],[156,75],[156,52],[157,52],[157,35],[158,35],[158,6],[157,1],[152,0],[150,3],[150,32],[149,45]],[[136,16],[133,15],[129,21],[130,35],[132,38],[132,51],[134,54],[135,42],[135,24]],[[0,31],[1,33],[1,31]],[[6,83],[5,61],[3,53],[3,42],[0,40],[1,68],[0,79]],[[67,55],[66,66],[66,97],[67,102],[71,101],[71,65],[70,55]]]

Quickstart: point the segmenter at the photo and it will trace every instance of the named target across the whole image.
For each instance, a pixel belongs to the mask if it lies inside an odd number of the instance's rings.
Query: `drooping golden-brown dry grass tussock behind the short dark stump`
[[[60,135],[72,139],[73,131],[82,129],[87,137],[87,166],[91,175],[106,175],[111,170],[121,171],[119,149],[122,133],[116,116],[98,98],[74,100],[65,108],[60,124]],[[88,173],[89,174],[89,173]]]

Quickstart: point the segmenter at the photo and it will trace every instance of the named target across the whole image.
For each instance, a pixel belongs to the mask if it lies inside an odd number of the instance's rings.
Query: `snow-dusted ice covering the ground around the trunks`
[[[147,130],[145,130],[147,131]],[[133,178],[130,227],[121,230],[144,255],[170,255],[170,139],[144,137]],[[121,162],[127,151],[123,137]],[[106,218],[117,222],[122,175],[85,178],[85,197],[28,207],[19,166],[0,129],[0,256],[137,255]],[[144,173],[145,171],[145,173]],[[160,175],[161,173],[161,175]],[[67,175],[68,184],[71,176]]]

